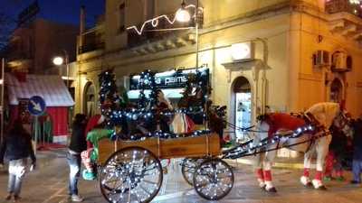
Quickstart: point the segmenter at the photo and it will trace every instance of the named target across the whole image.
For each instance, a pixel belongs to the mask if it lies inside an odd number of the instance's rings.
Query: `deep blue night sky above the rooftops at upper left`
[[[16,20],[25,7],[34,0],[0,0],[0,12]],[[40,13],[38,17],[58,23],[79,24],[81,5],[86,6],[87,27],[91,27],[95,18],[104,13],[105,0],[38,0]]]

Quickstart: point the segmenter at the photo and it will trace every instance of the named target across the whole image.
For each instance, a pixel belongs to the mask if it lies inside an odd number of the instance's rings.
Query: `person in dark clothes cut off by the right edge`
[[[353,180],[352,184],[361,183],[361,172],[362,172],[362,115],[353,122],[353,163],[352,172]]]

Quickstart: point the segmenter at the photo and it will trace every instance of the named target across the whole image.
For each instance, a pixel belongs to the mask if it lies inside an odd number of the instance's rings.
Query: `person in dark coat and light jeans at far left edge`
[[[32,136],[29,134],[20,119],[14,121],[13,127],[6,135],[0,150],[0,164],[4,163],[4,156],[9,161],[9,180],[6,200],[14,196],[14,201],[20,199],[20,192],[27,167],[27,158],[32,159],[31,170],[35,168],[36,158],[33,152]]]

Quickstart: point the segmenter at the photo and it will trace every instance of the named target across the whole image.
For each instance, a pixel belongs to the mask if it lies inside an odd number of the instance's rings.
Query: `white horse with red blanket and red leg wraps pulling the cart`
[[[268,144],[264,150],[273,149],[277,146],[282,147],[289,146],[293,143],[300,143],[288,147],[289,149],[297,152],[304,152],[304,172],[300,177],[300,182],[304,186],[314,186],[315,189],[326,189],[322,183],[322,171],[326,155],[329,152],[329,143],[331,141],[331,135],[329,134],[328,129],[331,125],[336,125],[347,135],[351,134],[352,130],[348,126],[348,118],[344,114],[343,108],[337,103],[327,102],[316,104],[311,106],[305,114],[310,115],[315,123],[317,123],[320,128],[324,129],[324,131],[319,130],[309,134],[301,134],[296,138],[281,137],[279,142]],[[272,138],[276,133],[289,134],[292,133],[292,131],[297,130],[299,127],[308,125],[308,122],[306,122],[303,118],[289,114],[271,113],[260,116],[258,120],[258,130],[268,133],[256,134],[253,141],[254,146],[268,136],[269,138]],[[310,140],[313,136],[317,138],[320,134],[326,134],[326,131],[328,135],[308,142],[308,140]],[[302,143],[305,141],[307,142]],[[314,179],[310,181],[310,165],[311,158],[314,153],[317,153],[317,171]],[[256,156],[254,165],[260,187],[270,192],[276,192],[276,189],[271,182],[271,165],[275,156],[276,151],[262,152]]]

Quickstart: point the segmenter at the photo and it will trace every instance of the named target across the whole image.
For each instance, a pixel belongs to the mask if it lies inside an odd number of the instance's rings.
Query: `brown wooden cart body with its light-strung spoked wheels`
[[[209,200],[224,198],[233,188],[233,171],[219,155],[217,134],[143,141],[102,140],[100,190],[109,202],[149,202],[162,184],[160,159],[187,157],[202,158],[195,168],[189,167],[186,160],[182,163],[184,177],[195,191]]]

